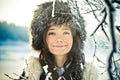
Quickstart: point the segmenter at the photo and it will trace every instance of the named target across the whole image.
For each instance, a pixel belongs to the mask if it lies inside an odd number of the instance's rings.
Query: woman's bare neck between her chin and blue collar
[[[66,60],[67,60],[67,56],[55,56],[55,62],[57,64],[57,67],[59,68],[63,67]]]

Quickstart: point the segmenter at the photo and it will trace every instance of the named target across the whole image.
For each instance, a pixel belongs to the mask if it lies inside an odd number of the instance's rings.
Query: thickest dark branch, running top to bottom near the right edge
[[[108,58],[108,73],[111,80],[113,80],[112,76],[112,57],[113,53],[116,52],[116,40],[115,40],[115,33],[114,33],[114,12],[115,8],[112,5],[112,3],[109,0],[104,0],[106,3],[106,6],[108,7],[108,14],[109,14],[109,22],[110,22],[110,32],[111,32],[111,38],[112,38],[112,50]]]

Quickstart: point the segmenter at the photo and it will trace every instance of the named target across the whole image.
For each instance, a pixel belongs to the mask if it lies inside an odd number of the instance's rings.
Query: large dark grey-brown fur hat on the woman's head
[[[55,2],[54,5],[54,17],[52,16],[53,2],[47,2],[38,5],[38,9],[35,10],[33,20],[31,22],[31,40],[32,47],[35,50],[41,50],[44,44],[44,31],[52,24],[62,25],[69,23],[72,29],[78,31],[81,41],[86,38],[86,31],[84,20],[80,16],[75,17],[71,8],[67,3]]]

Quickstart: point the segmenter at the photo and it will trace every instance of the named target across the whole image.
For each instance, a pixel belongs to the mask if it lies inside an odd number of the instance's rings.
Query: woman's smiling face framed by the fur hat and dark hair
[[[46,42],[54,56],[65,56],[73,45],[73,36],[69,27],[53,25],[48,29]]]

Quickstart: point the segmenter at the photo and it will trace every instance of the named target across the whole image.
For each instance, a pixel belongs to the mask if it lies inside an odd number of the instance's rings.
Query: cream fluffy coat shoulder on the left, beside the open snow
[[[29,80],[39,80],[42,68],[38,57],[29,56],[26,59],[25,72]]]

